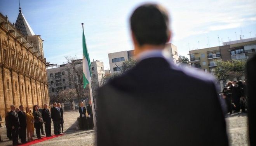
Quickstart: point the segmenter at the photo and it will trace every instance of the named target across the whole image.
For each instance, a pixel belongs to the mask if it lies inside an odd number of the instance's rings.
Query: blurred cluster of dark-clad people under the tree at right
[[[223,88],[223,97],[226,100],[227,111],[232,114],[234,112],[246,112],[246,82],[245,81],[228,81]]]

